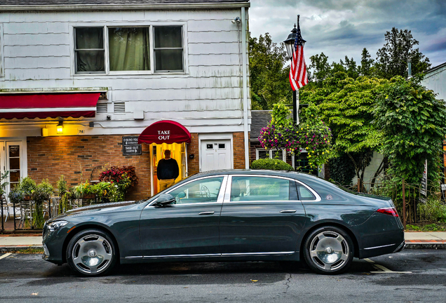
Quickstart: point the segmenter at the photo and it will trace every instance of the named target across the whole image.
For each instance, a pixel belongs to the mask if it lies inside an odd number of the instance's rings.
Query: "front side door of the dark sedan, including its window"
[[[219,214],[227,175],[202,177],[173,187],[175,203],[150,203],[141,213],[145,258],[219,255]]]

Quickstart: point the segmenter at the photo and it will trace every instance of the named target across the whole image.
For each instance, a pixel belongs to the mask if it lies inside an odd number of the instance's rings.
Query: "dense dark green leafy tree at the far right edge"
[[[391,79],[377,98],[376,125],[382,133],[381,151],[388,156],[394,180],[404,177],[409,183],[419,184],[427,159],[428,179],[438,184],[446,107],[420,81],[421,76],[409,81],[401,76]]]

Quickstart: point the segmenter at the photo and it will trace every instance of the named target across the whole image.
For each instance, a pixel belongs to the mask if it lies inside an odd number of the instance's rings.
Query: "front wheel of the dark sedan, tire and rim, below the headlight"
[[[67,262],[76,274],[100,276],[116,264],[117,250],[112,237],[100,229],[85,229],[69,241]]]

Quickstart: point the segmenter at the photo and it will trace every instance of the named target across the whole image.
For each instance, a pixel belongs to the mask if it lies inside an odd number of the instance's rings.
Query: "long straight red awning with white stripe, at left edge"
[[[94,117],[100,93],[0,94],[0,119]]]

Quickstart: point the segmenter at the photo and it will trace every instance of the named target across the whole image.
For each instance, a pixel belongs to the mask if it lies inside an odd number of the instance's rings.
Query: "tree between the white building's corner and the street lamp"
[[[283,43],[273,43],[269,33],[249,40],[252,109],[272,109],[280,100],[291,100],[290,68]]]

